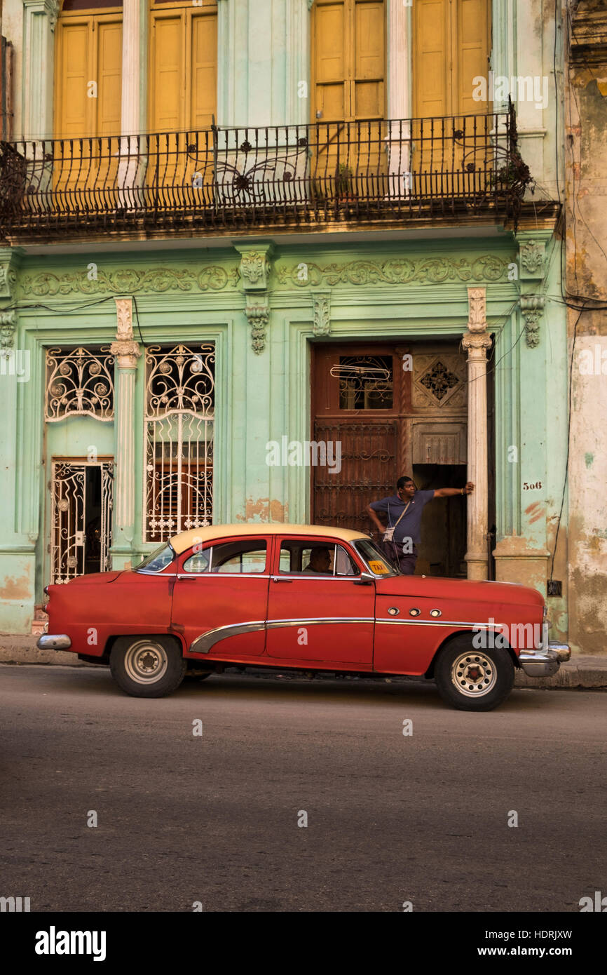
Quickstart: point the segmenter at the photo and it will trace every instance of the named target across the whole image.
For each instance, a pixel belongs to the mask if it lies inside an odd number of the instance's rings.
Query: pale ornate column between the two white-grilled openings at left
[[[141,350],[133,340],[133,298],[116,298],[115,477],[112,552],[131,553],[134,536],[134,384]]]

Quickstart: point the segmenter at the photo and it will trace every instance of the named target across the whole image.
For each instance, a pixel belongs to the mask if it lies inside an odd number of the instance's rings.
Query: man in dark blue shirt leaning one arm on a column
[[[373,524],[384,532],[386,553],[398,564],[403,575],[413,575],[415,572],[425,505],[436,497],[454,497],[456,494],[472,494],[473,491],[471,481],[466,487],[417,490],[412,478],[398,478],[396,494],[369,504],[367,514]],[[388,526],[382,525],[377,517],[378,512],[386,515]]]

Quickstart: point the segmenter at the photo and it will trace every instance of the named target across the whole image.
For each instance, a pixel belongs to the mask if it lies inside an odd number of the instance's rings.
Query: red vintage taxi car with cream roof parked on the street
[[[109,664],[135,697],[229,666],[436,681],[444,700],[489,711],[514,670],[569,659],[548,643],[542,596],[502,582],[400,575],[358,531],[214,525],[175,535],[134,569],[48,586],[38,646]]]

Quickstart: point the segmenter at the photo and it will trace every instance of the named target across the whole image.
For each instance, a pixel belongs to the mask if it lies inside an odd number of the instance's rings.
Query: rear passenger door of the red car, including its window
[[[244,535],[180,557],[171,627],[186,655],[241,660],[264,652],[270,554],[269,537]]]

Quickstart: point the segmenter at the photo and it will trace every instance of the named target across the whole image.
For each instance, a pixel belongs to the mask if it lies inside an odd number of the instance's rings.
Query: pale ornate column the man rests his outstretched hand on
[[[485,289],[469,288],[468,331],[462,345],[468,351],[468,479],[474,491],[468,495],[469,579],[487,578],[488,448],[487,448],[487,334]]]

